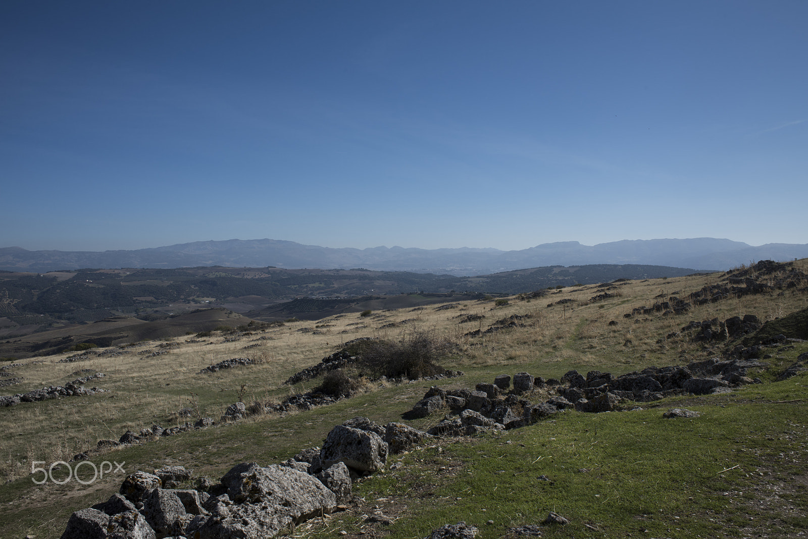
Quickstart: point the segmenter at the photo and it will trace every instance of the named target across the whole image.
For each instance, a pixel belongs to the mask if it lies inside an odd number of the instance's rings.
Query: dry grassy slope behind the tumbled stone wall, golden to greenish
[[[794,267],[808,271],[808,261],[796,261]],[[725,320],[753,314],[764,322],[808,307],[808,294],[799,291],[808,283],[802,282],[797,289],[785,290],[782,295],[766,293],[722,299],[693,306],[682,315],[653,312],[625,317],[635,308],[651,307],[670,296],[687,298],[723,277],[723,274],[708,274],[571,286],[545,290],[546,294],[541,296],[516,295],[507,299],[372,311],[369,315],[335,315],[317,321],[290,321],[280,327],[255,331],[247,328],[244,332],[215,331],[209,336],[191,334],[142,341],[115,349],[91,349],[82,359],[70,362],[63,361],[77,353],[19,361],[19,365],[3,373],[5,378],[18,377],[22,381],[3,387],[3,395],[65,385],[95,372],[105,376],[84,385],[98,386],[106,392],[0,408],[0,478],[7,483],[3,487],[6,495],[0,498],[11,499],[11,496],[26,500],[22,506],[7,501],[3,503],[5,507],[0,506],[0,536],[12,537],[9,535],[12,531],[19,535],[23,529],[32,529],[28,524],[15,524],[23,520],[30,522],[32,516],[27,511],[56,503],[59,514],[69,515],[70,511],[86,507],[90,494],[101,498],[116,488],[112,483],[99,483],[95,490],[80,490],[76,485],[34,489],[27,480],[32,462],[69,462],[74,454],[95,447],[97,441],[117,440],[127,430],[140,432],[152,424],[164,428],[183,424],[189,420],[179,415],[183,408],[190,407],[195,415],[198,412],[199,416],[219,420],[226,407],[239,400],[248,405],[256,401],[280,402],[292,393],[308,391],[318,384],[318,380],[311,380],[293,387],[284,386],[289,376],[317,364],[322,357],[358,337],[395,341],[411,332],[447,337],[457,343],[457,348],[443,366],[463,370],[465,377],[452,378],[442,385],[473,387],[477,382],[492,381],[497,374],[519,371],[560,378],[571,369],[584,374],[588,370],[624,374],[651,365],[684,365],[715,357],[721,351],[718,345],[693,343],[688,333],[680,332],[691,320]],[[608,297],[595,299],[604,292],[608,292]],[[492,326],[507,326],[510,322],[514,323],[512,327],[486,333]],[[475,331],[482,334],[469,335]],[[164,353],[152,355],[155,352]],[[237,357],[260,362],[216,373],[200,373],[204,367]],[[293,454],[293,447],[317,445],[330,426],[339,423],[336,417],[336,421],[331,420],[335,414],[377,416],[385,422],[400,420],[400,414],[420,399],[423,388],[429,385],[429,382],[402,386],[371,384],[367,395],[356,399],[357,404],[341,402],[283,417],[253,416],[240,422],[241,426],[208,429],[219,432],[205,435],[215,440],[189,432],[171,437],[176,440],[149,442],[126,449],[129,451],[126,454],[129,462],[147,466],[167,462],[166,454],[179,452],[169,461],[217,473],[240,462],[238,457],[253,454],[233,449],[241,443],[238,437],[246,436],[246,432],[253,432],[250,436],[258,436],[255,432],[259,431],[285,432],[285,441],[259,437],[260,441],[255,443],[261,447],[260,454]],[[220,437],[225,434],[234,437],[232,444],[221,445]],[[190,444],[184,449],[183,438]],[[194,445],[197,443],[200,445]],[[210,448],[207,456],[205,444]],[[196,455],[196,466],[182,462],[180,453]],[[45,529],[33,529],[31,533],[36,537],[56,537],[63,525],[57,522]]]

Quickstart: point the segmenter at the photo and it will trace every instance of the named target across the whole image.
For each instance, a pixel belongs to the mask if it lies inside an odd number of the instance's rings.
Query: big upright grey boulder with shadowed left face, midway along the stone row
[[[387,462],[388,445],[376,432],[337,425],[328,433],[320,451],[325,470],[337,462],[360,474],[373,474]]]

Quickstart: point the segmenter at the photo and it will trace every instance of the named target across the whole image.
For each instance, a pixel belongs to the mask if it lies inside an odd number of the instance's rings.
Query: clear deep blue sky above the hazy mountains
[[[0,247],[808,243],[808,2],[0,2]]]

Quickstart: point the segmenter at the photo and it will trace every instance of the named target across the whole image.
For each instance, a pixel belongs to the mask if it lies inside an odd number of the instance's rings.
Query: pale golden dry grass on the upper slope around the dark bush
[[[808,262],[798,261],[797,266],[806,270]],[[374,311],[364,317],[359,313],[335,315],[314,322],[289,323],[239,336],[231,342],[227,342],[227,335],[215,332],[203,339],[177,338],[173,342],[179,346],[158,357],[145,357],[140,352],[157,350],[167,341],[138,343],[117,357],[94,355],[60,363],[69,355],[65,353],[25,360],[25,366],[10,370],[14,376],[22,376],[23,382],[6,388],[6,395],[11,391],[24,393],[43,386],[64,385],[89,374],[78,373],[79,370],[106,374],[86,386],[99,386],[108,392],[0,409],[3,432],[0,478],[27,474],[32,460],[69,460],[75,453],[94,447],[99,439],[117,439],[126,430],[139,432],[153,423],[168,427],[184,422],[187,419],[181,419],[177,413],[183,407],[196,406],[202,416],[218,420],[225,408],[239,398],[248,403],[280,400],[291,392],[308,391],[318,382],[309,381],[294,388],[283,386],[283,382],[357,337],[399,339],[412,331],[451,337],[459,344],[459,352],[445,366],[465,370],[467,379],[463,383],[473,386],[474,382],[490,381],[491,374],[520,370],[549,378],[560,377],[569,369],[583,373],[591,369],[611,370],[621,374],[648,365],[684,364],[716,353],[692,344],[686,336],[660,341],[660,336],[678,332],[690,320],[716,317],[725,320],[734,315],[755,314],[765,321],[808,306],[804,293],[787,291],[782,296],[749,295],[709,303],[693,307],[686,315],[654,313],[624,318],[634,307],[650,307],[655,301],[662,301],[654,299],[655,296],[684,298],[721,277],[722,274],[711,274],[630,281],[620,283],[617,290],[609,290],[617,297],[595,302],[591,298],[604,288],[573,286],[553,290],[541,298],[513,296],[507,305],[499,307],[491,299],[455,302],[454,308],[430,305]],[[556,304],[561,299],[570,299],[572,303]],[[484,318],[461,323],[467,315]],[[511,315],[527,316],[518,320],[524,325],[483,336],[466,336],[477,329],[484,331]],[[616,324],[609,325],[610,322]],[[204,367],[234,357],[263,362],[200,374]]]

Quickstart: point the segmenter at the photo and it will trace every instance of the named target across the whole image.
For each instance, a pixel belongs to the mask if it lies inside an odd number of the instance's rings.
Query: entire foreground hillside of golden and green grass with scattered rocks
[[[72,512],[109,499],[124,478],[111,473],[88,484],[36,485],[32,462],[75,466],[74,455],[84,453],[95,466],[125,462],[126,474],[185,466],[212,481],[183,487],[215,490],[238,463],[287,461],[301,449],[322,447],[335,425],[356,416],[422,430],[437,428],[444,416],[457,420],[448,397],[436,411],[413,413],[427,391],[441,395],[431,386],[466,395],[462,391],[491,386],[503,375],[516,386],[516,374],[529,373],[541,384],[490,402],[544,410],[564,395],[584,395],[584,403],[596,403],[604,400],[596,395],[605,394],[595,389],[604,386],[617,391],[610,393],[617,400],[608,413],[553,405],[548,416],[528,424],[441,434],[390,453],[381,470],[353,482],[345,510],[284,533],[403,539],[462,520],[483,539],[517,537],[514,529],[524,526],[542,537],[802,537],[808,530],[806,311],[808,260],[763,261],[726,273],[616,278],[316,321],[231,323],[6,362],[0,380],[11,383],[3,395],[44,395],[43,387],[103,376],[82,382],[102,390],[94,395],[0,407],[7,481],[0,487],[0,536],[60,537]],[[372,345],[363,342],[388,343],[393,354],[393,344],[419,335],[442,343],[441,368],[465,374],[377,378],[364,363],[351,363],[351,357],[371,356],[372,348],[363,346]],[[362,337],[376,341],[357,345]],[[345,362],[335,363],[340,358]],[[284,384],[332,363],[339,366],[332,372],[345,375],[344,394],[314,391],[327,387],[322,375]],[[698,374],[717,365],[745,370]],[[688,386],[693,391],[659,395],[639,386],[617,389],[617,380],[650,383],[651,374],[669,380],[671,373],[702,385],[712,380],[721,391],[696,391],[696,384]],[[598,380],[605,385],[596,386]],[[246,417],[222,421],[237,402]],[[664,418],[671,408],[700,415]],[[217,425],[181,432],[187,421],[205,417]],[[172,435],[157,436],[158,428]],[[60,482],[64,469],[53,471]],[[570,524],[546,524],[550,511]]]

